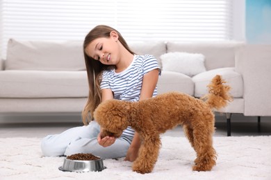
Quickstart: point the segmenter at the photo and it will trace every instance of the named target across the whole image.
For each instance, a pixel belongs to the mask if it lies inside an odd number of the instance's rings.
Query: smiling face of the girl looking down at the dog
[[[117,39],[117,33],[112,31],[110,37],[100,37],[90,42],[85,48],[85,52],[102,64],[116,65],[120,59]]]

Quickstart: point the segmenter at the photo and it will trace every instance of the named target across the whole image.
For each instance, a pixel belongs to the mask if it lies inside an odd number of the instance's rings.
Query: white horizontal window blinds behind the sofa
[[[1,0],[1,55],[8,39],[82,40],[98,24],[127,42],[231,39],[232,0]]]

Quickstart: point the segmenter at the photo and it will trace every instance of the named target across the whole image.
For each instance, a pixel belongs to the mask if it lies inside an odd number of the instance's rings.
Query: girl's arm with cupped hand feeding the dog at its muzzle
[[[111,89],[101,89],[101,102],[104,102],[105,100],[111,100],[113,99],[113,93]],[[99,145],[103,147],[108,147],[110,145],[113,145],[115,143],[116,138],[106,136],[104,138],[101,138],[101,134],[98,135],[97,141]]]

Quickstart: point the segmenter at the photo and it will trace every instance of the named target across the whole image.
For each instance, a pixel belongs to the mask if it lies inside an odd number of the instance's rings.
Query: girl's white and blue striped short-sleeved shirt
[[[101,79],[101,89],[111,89],[113,96],[117,100],[138,101],[142,87],[142,80],[146,73],[154,69],[161,69],[156,58],[152,55],[134,55],[133,62],[127,69],[116,73],[115,69],[104,71]],[[153,96],[157,95],[157,86],[154,89]],[[133,129],[128,127],[124,130],[124,136],[133,136]]]

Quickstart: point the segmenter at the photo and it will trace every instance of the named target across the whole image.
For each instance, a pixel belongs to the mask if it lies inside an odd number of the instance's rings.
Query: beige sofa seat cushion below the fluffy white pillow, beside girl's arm
[[[194,95],[194,82],[192,82],[192,79],[188,75],[183,73],[162,71],[157,86],[158,94],[168,91],[181,91],[190,96]]]

